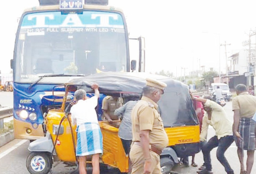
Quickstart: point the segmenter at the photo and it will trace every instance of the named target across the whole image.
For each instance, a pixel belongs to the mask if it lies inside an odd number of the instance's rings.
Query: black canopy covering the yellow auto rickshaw
[[[187,85],[169,77],[147,73],[106,72],[71,80],[87,92],[93,92],[90,86],[99,84],[100,93],[141,93],[146,78],[152,78],[167,84],[164,94],[158,102],[164,127],[198,125],[198,119],[192,104]]]

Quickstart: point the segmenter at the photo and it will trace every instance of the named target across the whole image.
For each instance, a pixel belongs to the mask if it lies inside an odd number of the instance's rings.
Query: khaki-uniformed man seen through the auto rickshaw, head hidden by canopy
[[[118,120],[118,116],[114,115],[115,109],[118,109],[122,106],[119,97],[116,96],[106,96],[102,101],[102,110],[103,110],[103,120],[104,117],[109,123],[112,123],[113,120]],[[113,126],[119,127],[120,122],[112,123]]]

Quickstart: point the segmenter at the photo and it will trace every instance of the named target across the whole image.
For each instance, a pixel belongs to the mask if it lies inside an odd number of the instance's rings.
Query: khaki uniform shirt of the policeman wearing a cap
[[[145,96],[135,105],[131,114],[133,141],[141,141],[141,130],[150,130],[149,144],[154,144],[156,148],[162,150],[168,145],[169,140],[157,108],[158,105]]]

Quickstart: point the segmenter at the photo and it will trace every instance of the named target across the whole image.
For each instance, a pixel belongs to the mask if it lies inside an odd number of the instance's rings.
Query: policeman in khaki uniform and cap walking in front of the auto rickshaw
[[[130,150],[132,174],[161,174],[160,154],[168,145],[168,136],[156,104],[166,84],[146,79],[141,100],[133,108],[133,143]]]

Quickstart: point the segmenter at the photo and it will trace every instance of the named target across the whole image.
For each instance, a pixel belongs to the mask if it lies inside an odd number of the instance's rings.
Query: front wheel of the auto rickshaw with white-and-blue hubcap
[[[27,170],[31,174],[47,174],[52,168],[52,158],[49,152],[31,152],[26,160]]]

